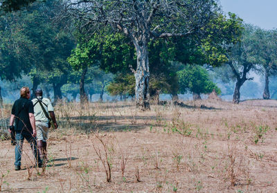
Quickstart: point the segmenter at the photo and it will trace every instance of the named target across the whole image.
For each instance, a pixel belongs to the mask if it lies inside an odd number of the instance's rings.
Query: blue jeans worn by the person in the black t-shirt
[[[35,156],[36,165],[42,165],[42,160],[39,158],[39,153],[37,151],[37,140],[30,134],[29,131],[22,131],[21,133],[15,134],[15,140],[17,145],[15,146],[15,165],[21,166],[21,155],[22,155],[22,145],[24,138],[30,144],[30,147],[33,149],[33,154]]]

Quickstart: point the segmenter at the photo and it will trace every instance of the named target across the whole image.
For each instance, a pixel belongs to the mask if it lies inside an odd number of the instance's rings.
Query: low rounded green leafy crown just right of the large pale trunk
[[[213,89],[220,94],[220,89],[211,81],[208,71],[199,65],[187,65],[183,70],[178,71],[180,92],[186,93],[211,93]]]

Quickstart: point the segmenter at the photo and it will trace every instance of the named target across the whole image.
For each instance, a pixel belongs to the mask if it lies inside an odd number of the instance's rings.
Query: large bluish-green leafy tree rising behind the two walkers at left
[[[75,46],[65,22],[53,22],[57,12],[62,9],[61,1],[48,0],[33,3],[28,10],[3,16],[5,25],[10,29],[10,33],[4,33],[5,38],[12,37],[13,42],[8,43],[15,45],[17,51],[13,51],[12,57],[18,57],[24,73],[32,76],[32,90],[35,91],[41,83],[50,83],[55,100],[62,98],[60,88],[71,71],[66,58]]]

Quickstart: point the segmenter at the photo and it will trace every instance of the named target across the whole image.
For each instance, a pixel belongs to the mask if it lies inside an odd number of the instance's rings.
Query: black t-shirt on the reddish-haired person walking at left
[[[15,131],[30,131],[33,134],[30,125],[29,113],[34,113],[33,102],[27,98],[19,98],[12,106],[12,115],[15,115]]]

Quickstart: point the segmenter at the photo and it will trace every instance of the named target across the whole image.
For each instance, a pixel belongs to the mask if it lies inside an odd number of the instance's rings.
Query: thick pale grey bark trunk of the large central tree
[[[141,110],[150,109],[150,93],[149,93],[149,60],[147,43],[144,42],[141,46],[136,46],[136,107]]]

